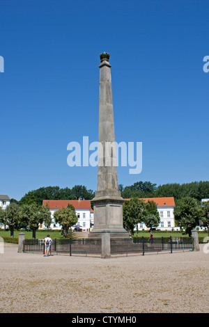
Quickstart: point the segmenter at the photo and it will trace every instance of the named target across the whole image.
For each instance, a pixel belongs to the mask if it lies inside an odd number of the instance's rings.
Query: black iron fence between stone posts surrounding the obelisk
[[[150,243],[148,238],[134,237],[130,239],[110,239],[111,255],[139,253],[160,253],[176,250],[193,250],[192,237],[156,237]],[[25,239],[24,253],[45,254],[42,239]],[[102,239],[54,239],[49,247],[49,255],[101,255]]]

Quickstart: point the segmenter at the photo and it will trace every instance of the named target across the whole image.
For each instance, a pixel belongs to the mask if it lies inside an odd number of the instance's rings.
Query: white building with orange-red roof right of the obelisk
[[[125,199],[129,200],[129,199]],[[160,214],[160,225],[157,227],[158,230],[174,230],[175,218],[173,210],[175,202],[173,197],[167,198],[141,198],[145,202],[154,201],[157,205],[157,211]],[[178,228],[176,228],[178,229]],[[144,223],[139,223],[138,230],[149,230]]]

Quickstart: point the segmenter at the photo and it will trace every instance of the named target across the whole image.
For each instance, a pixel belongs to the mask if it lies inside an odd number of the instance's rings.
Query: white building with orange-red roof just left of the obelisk
[[[75,207],[78,218],[76,225],[80,225],[83,231],[87,231],[93,226],[93,210],[90,200],[43,200],[42,205],[48,205],[52,214],[52,225],[50,226],[52,230],[61,229],[61,226],[54,221],[54,212],[68,205]],[[41,228],[45,228],[45,225],[43,224]]]

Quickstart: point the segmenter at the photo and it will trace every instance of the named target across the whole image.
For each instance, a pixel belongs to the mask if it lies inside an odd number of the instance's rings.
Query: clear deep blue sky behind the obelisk
[[[116,141],[143,143],[118,183],[208,180],[208,0],[1,0],[0,193],[97,189],[67,145],[98,141],[99,68],[109,52]]]

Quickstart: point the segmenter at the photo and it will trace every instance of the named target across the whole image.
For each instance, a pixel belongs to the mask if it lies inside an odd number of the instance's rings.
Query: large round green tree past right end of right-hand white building
[[[174,216],[178,224],[191,236],[192,229],[199,225],[199,220],[203,218],[203,208],[194,198],[182,198],[176,202]]]

